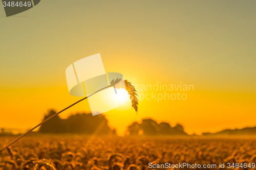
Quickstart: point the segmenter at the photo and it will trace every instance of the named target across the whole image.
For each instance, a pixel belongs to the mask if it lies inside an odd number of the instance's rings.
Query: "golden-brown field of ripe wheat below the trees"
[[[0,137],[0,147],[11,137]],[[153,164],[255,163],[255,139],[25,137],[0,153],[0,169],[154,169]],[[156,168],[159,169],[159,168]],[[196,169],[196,168],[161,168]],[[200,168],[198,168],[200,169]],[[234,167],[225,169],[256,169]]]

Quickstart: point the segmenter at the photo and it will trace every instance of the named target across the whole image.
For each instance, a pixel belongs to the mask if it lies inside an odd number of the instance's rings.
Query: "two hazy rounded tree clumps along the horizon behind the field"
[[[45,115],[44,120],[54,115],[56,112],[50,110]],[[77,113],[70,115],[66,119],[58,115],[50,119],[39,128],[40,133],[71,133],[84,135],[117,135],[116,130],[112,130],[108,125],[108,120],[102,115],[92,116],[87,113]],[[152,119],[143,119],[132,123],[127,127],[126,136],[158,136],[158,135],[187,135],[181,125],[171,127],[168,123],[158,124]]]

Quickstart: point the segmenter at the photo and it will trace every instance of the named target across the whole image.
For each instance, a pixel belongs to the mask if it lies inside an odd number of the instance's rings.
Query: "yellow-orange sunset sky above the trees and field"
[[[130,101],[104,113],[123,135],[143,118],[188,134],[256,126],[255,1],[41,1],[6,17],[0,7],[0,127],[32,128],[78,101],[65,70],[100,53],[106,72],[138,85],[193,85],[186,100]],[[143,94],[143,95],[142,95]],[[148,95],[149,96],[149,95]],[[84,101],[60,114],[90,112]]]

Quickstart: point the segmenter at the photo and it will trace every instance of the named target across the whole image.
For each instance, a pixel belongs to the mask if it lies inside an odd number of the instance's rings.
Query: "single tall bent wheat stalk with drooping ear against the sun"
[[[65,111],[65,110],[71,108],[72,106],[78,104],[79,102],[81,102],[81,101],[83,101],[83,100],[86,100],[87,98],[89,98],[90,96],[96,94],[97,92],[99,92],[99,91],[101,91],[101,90],[104,90],[104,89],[109,88],[109,87],[114,87],[114,86],[115,86],[117,83],[119,83],[121,80],[122,80],[122,79],[120,79],[120,78],[117,78],[116,80],[112,80],[112,81],[111,81],[111,84],[110,84],[109,86],[106,86],[106,87],[103,87],[103,88],[99,89],[98,91],[92,93],[91,95],[86,96],[85,98],[83,98],[83,99],[81,99],[81,100],[79,100],[79,101],[73,103],[72,105],[66,107],[65,109],[62,109],[62,110],[59,111],[58,113],[55,113],[55,114],[52,115],[51,117],[45,119],[45,120],[42,121],[40,124],[36,125],[36,126],[35,126],[34,128],[32,128],[32,129],[30,129],[28,132],[24,133],[23,135],[17,137],[15,140],[13,140],[13,141],[11,141],[9,144],[7,144],[4,148],[2,148],[2,149],[0,150],[0,153],[1,153],[3,150],[5,150],[6,148],[10,147],[10,145],[12,145],[13,143],[15,143],[15,142],[18,141],[19,139],[23,138],[23,137],[24,137],[25,135],[27,135],[28,133],[32,132],[33,130],[35,130],[36,128],[38,128],[39,126],[41,126],[42,124],[44,124],[45,122],[47,122],[48,120],[50,120],[51,118],[53,118],[53,117],[55,117],[56,115],[58,115],[59,113],[61,113],[61,112]],[[125,81],[127,81],[127,80],[125,80]],[[129,81],[127,81],[127,82],[129,82]],[[129,82],[129,83],[131,83],[131,82]],[[125,85],[126,85],[126,83],[125,83]],[[133,87],[134,87],[134,86],[133,86]],[[127,86],[126,86],[126,90],[127,90]],[[128,90],[127,90],[127,91],[128,91]],[[136,91],[136,90],[135,90],[135,91]],[[136,93],[135,95],[137,95],[137,93]],[[135,98],[136,98],[136,96],[135,96]],[[131,99],[131,94],[130,94],[130,99]],[[132,106],[134,107],[133,99],[131,99],[131,100],[132,100]],[[136,98],[136,101],[138,101],[137,98]],[[137,102],[137,103],[138,103],[138,102]],[[137,104],[137,105],[138,105],[138,104]],[[137,105],[136,105],[136,107],[134,107],[136,113],[137,113],[137,111],[138,111],[138,106],[137,106]]]

